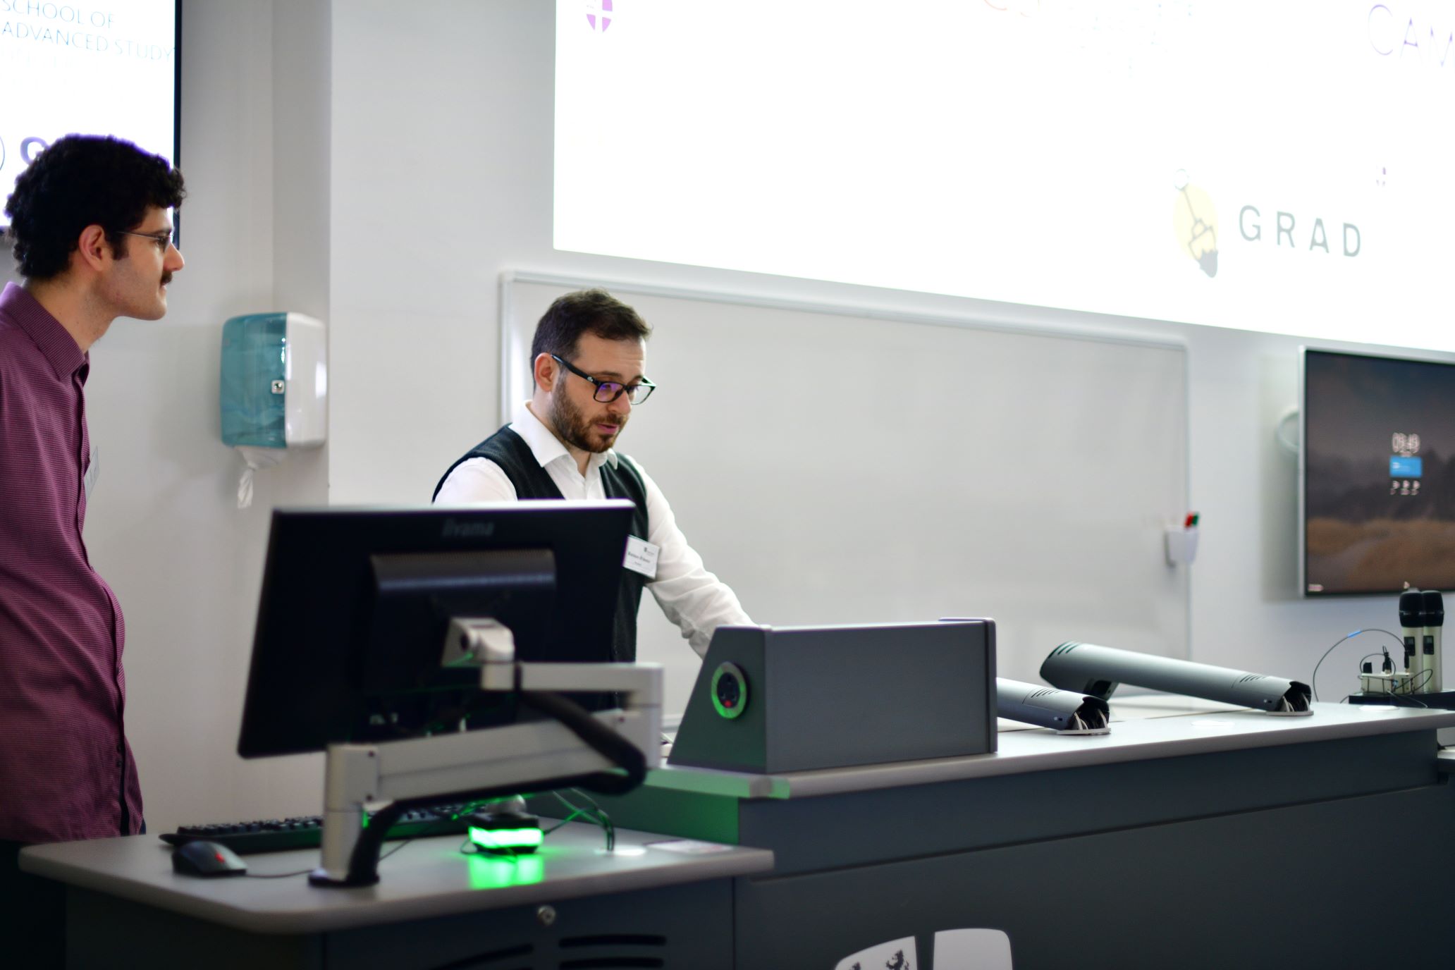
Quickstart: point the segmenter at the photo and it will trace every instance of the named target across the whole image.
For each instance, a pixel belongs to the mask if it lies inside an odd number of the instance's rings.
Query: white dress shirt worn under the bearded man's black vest
[[[666,618],[678,625],[698,656],[707,653],[707,641],[713,630],[723,624],[751,624],[742,611],[738,596],[716,576],[703,567],[703,557],[687,544],[687,537],[677,528],[672,506],[666,503],[662,490],[652,476],[633,458],[607,449],[594,454],[586,462],[586,474],[581,474],[576,460],[524,404],[515,412],[509,428],[519,435],[541,468],[550,476],[566,499],[601,500],[607,497],[601,484],[601,465],[611,462],[615,468],[621,461],[630,461],[646,486],[647,542],[656,545],[656,579],[649,579],[652,590]],[[435,496],[436,505],[460,505],[466,502],[514,502],[515,486],[505,470],[489,458],[470,458],[455,465]]]

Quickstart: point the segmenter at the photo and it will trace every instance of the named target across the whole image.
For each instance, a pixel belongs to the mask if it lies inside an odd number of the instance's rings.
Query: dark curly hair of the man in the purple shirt
[[[4,205],[20,275],[65,272],[87,225],[106,230],[112,250],[125,256],[122,233],[140,225],[150,207],[175,209],[185,196],[182,173],[166,159],[121,138],[65,135],[20,173]]]

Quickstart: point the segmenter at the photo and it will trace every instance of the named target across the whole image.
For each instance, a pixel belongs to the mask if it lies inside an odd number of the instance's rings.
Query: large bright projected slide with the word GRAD
[[[1455,6],[559,0],[557,249],[1455,349]]]

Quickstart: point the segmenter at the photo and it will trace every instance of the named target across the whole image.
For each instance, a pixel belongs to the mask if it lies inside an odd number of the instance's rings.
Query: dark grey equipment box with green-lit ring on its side
[[[719,627],[668,761],[754,774],[995,750],[995,621]]]

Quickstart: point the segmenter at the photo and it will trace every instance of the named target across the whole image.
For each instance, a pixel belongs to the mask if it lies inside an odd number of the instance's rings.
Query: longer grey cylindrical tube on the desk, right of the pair
[[[1133,684],[1168,694],[1257,707],[1270,714],[1314,713],[1308,704],[1308,685],[1298,681],[1099,647],[1094,643],[1061,644],[1040,665],[1040,676],[1062,691],[1078,691],[1101,700],[1109,698],[1117,684]]]

